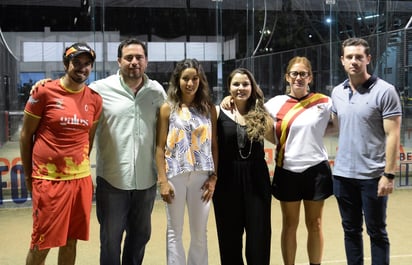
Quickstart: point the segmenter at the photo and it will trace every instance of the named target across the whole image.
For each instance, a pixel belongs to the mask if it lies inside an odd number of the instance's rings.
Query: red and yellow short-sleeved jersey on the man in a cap
[[[24,111],[40,119],[32,152],[33,178],[90,176],[89,131],[102,111],[98,93],[87,86],[72,91],[54,80],[33,92]]]

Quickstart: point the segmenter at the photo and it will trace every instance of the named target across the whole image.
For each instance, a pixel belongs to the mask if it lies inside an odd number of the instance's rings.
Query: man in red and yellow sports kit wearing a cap
[[[89,239],[89,154],[102,98],[85,82],[95,58],[85,43],[66,48],[66,74],[37,87],[24,109],[20,153],[33,202],[27,265],[44,264],[52,247],[59,247],[59,265],[74,264],[77,240]]]

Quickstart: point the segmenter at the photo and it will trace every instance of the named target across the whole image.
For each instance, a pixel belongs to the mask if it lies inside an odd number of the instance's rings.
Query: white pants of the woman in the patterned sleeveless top
[[[202,201],[201,187],[207,180],[207,172],[183,173],[169,179],[175,197],[166,205],[167,214],[167,264],[207,265],[207,220],[210,201]],[[186,263],[182,233],[187,204],[190,227],[190,247]]]

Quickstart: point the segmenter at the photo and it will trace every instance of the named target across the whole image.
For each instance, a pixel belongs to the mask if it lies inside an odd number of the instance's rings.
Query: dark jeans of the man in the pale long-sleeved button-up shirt
[[[119,190],[97,177],[96,213],[100,223],[100,264],[140,265],[151,234],[156,185],[147,190]],[[120,262],[123,233],[126,237]]]

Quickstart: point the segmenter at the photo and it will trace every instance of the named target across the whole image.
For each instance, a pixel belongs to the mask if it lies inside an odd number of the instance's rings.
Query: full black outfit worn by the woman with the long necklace
[[[218,180],[213,203],[221,264],[244,264],[242,237],[246,232],[247,264],[266,265],[270,263],[271,187],[264,145],[247,139],[240,149],[237,126],[220,110]]]

